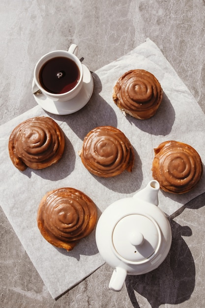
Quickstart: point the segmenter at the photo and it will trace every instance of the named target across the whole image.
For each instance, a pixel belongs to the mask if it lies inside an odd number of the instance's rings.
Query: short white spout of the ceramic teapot
[[[159,182],[156,180],[152,180],[146,185],[144,189],[138,191],[133,196],[133,198],[142,199],[151,204],[158,205],[159,204],[159,200],[158,200],[159,187],[160,187]]]

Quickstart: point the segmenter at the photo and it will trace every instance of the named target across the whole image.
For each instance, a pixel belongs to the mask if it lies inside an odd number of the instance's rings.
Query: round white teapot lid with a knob
[[[161,234],[151,217],[131,214],[117,222],[112,239],[121,258],[131,262],[145,262],[158,250]]]

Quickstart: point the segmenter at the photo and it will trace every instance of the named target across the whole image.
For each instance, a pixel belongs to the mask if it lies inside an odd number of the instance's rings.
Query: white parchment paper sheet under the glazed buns
[[[127,70],[146,69],[159,80],[163,101],[157,114],[149,120],[124,116],[112,100],[117,79]],[[158,47],[149,39],[130,53],[93,73],[94,92],[88,104],[77,113],[57,116],[40,106],[0,126],[0,205],[26,249],[32,263],[53,298],[87,277],[104,261],[100,257],[94,231],[72,251],[50,245],[41,236],[36,213],[47,191],[74,187],[86,193],[96,204],[98,216],[119,198],[132,196],[152,179],[153,148],[166,140],[176,140],[194,147],[205,162],[205,114],[177,76]],[[35,116],[50,116],[62,128],[66,147],[58,164],[42,170],[18,171],[8,155],[8,138],[13,128]],[[88,131],[99,125],[112,125],[125,133],[135,152],[132,173],[102,179],[83,166],[78,151]],[[173,214],[181,205],[205,192],[205,175],[191,192],[173,195],[159,192],[159,207]]]

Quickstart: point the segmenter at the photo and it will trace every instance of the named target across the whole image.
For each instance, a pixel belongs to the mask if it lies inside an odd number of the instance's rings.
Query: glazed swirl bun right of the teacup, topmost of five
[[[144,69],[124,73],[114,87],[113,100],[119,109],[140,120],[151,118],[162,101],[162,88]]]

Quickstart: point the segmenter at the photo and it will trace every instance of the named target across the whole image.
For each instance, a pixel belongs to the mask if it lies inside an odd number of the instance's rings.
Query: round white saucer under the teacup
[[[33,80],[34,83],[34,80]],[[57,102],[44,94],[33,94],[36,102],[45,110],[54,115],[69,115],[83,108],[93,92],[93,79],[88,67],[83,64],[83,86],[78,95],[66,102]]]

